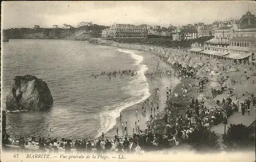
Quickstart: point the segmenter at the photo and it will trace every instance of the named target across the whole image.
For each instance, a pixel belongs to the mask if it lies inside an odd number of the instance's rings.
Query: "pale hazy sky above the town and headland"
[[[254,1],[7,1],[2,2],[1,25],[8,28],[76,27],[81,21],[110,26],[147,24],[168,27],[215,20],[240,19],[248,10],[256,14]]]

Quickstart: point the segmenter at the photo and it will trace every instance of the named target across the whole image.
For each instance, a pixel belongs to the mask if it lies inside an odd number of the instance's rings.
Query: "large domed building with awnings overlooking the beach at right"
[[[249,11],[237,24],[216,30],[214,36],[204,45],[193,44],[189,51],[232,62],[256,63],[256,18]]]

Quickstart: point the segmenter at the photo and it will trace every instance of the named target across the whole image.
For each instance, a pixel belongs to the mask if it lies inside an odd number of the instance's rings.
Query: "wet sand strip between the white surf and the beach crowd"
[[[111,46],[113,46],[113,45],[111,45]],[[123,49],[123,50],[131,50],[131,51],[140,53],[140,54],[136,54],[136,55],[143,56],[143,61],[141,64],[146,64],[146,66],[148,68],[147,71],[153,72],[155,75],[157,75],[157,77],[154,77],[151,80],[146,75],[146,72],[144,72],[144,75],[146,77],[146,82],[148,83],[149,91],[151,94],[150,97],[146,98],[146,100],[154,98],[155,88],[159,88],[159,91],[160,91],[159,92],[159,110],[160,110],[160,112],[159,112],[156,122],[162,122],[164,114],[165,114],[166,87],[169,87],[170,83],[169,83],[169,77],[167,75],[164,74],[162,77],[160,77],[159,70],[162,69],[162,67],[163,67],[163,69],[166,68],[167,70],[175,71],[174,68],[172,66],[170,66],[167,63],[167,61],[159,59],[159,69],[158,69],[158,71],[156,71],[154,69],[154,67],[152,67],[152,65],[145,63],[145,60],[148,60],[148,59],[150,59],[149,57],[151,57],[151,61],[156,61],[156,59],[159,58],[160,54],[153,53],[153,52],[143,52],[143,51],[138,51],[136,49],[122,48],[122,47],[118,47],[118,46],[114,46],[114,47]],[[152,58],[152,57],[154,57],[154,58]],[[172,79],[172,88],[175,88],[178,84],[181,83],[181,81],[179,79],[177,79],[177,77],[175,77],[174,75],[172,75],[171,79]],[[150,119],[150,113],[148,112],[149,110],[146,110],[146,117],[143,117],[141,114],[141,107],[142,107],[142,104],[137,103],[137,104],[127,107],[121,111],[122,118],[124,120],[128,121],[127,130],[128,130],[129,136],[132,135],[133,128],[135,128],[135,121],[137,121],[137,120],[139,120],[141,130],[147,129],[146,121]],[[135,114],[136,109],[138,109],[138,115],[135,119],[134,117],[136,116],[136,114]],[[126,117],[127,115],[128,115],[128,119]],[[126,117],[126,118],[124,118],[124,117]],[[124,120],[122,120],[121,122],[124,122]],[[122,130],[121,122],[120,122],[120,115],[119,115],[119,118],[116,119],[115,126],[112,129],[110,129],[108,132],[104,132],[104,135],[110,136],[110,137],[114,136],[116,134],[117,126],[119,128],[119,131],[118,131],[119,136],[120,136],[120,134],[121,134],[121,136],[125,135],[122,133],[122,131],[120,131],[120,130]],[[131,122],[133,122],[133,123],[131,123]],[[137,133],[136,130],[135,130],[135,133]],[[96,136],[96,137],[98,137],[98,136]]]

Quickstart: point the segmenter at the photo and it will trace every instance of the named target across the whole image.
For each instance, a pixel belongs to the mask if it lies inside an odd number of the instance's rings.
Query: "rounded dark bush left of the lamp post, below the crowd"
[[[220,148],[218,139],[219,137],[215,132],[202,127],[190,134],[189,145],[191,150],[197,153],[214,152]]]

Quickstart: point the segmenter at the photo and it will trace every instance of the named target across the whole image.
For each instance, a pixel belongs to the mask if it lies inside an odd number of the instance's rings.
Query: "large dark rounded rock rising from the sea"
[[[46,82],[35,76],[16,76],[6,99],[8,110],[39,110],[52,107],[53,98]]]

